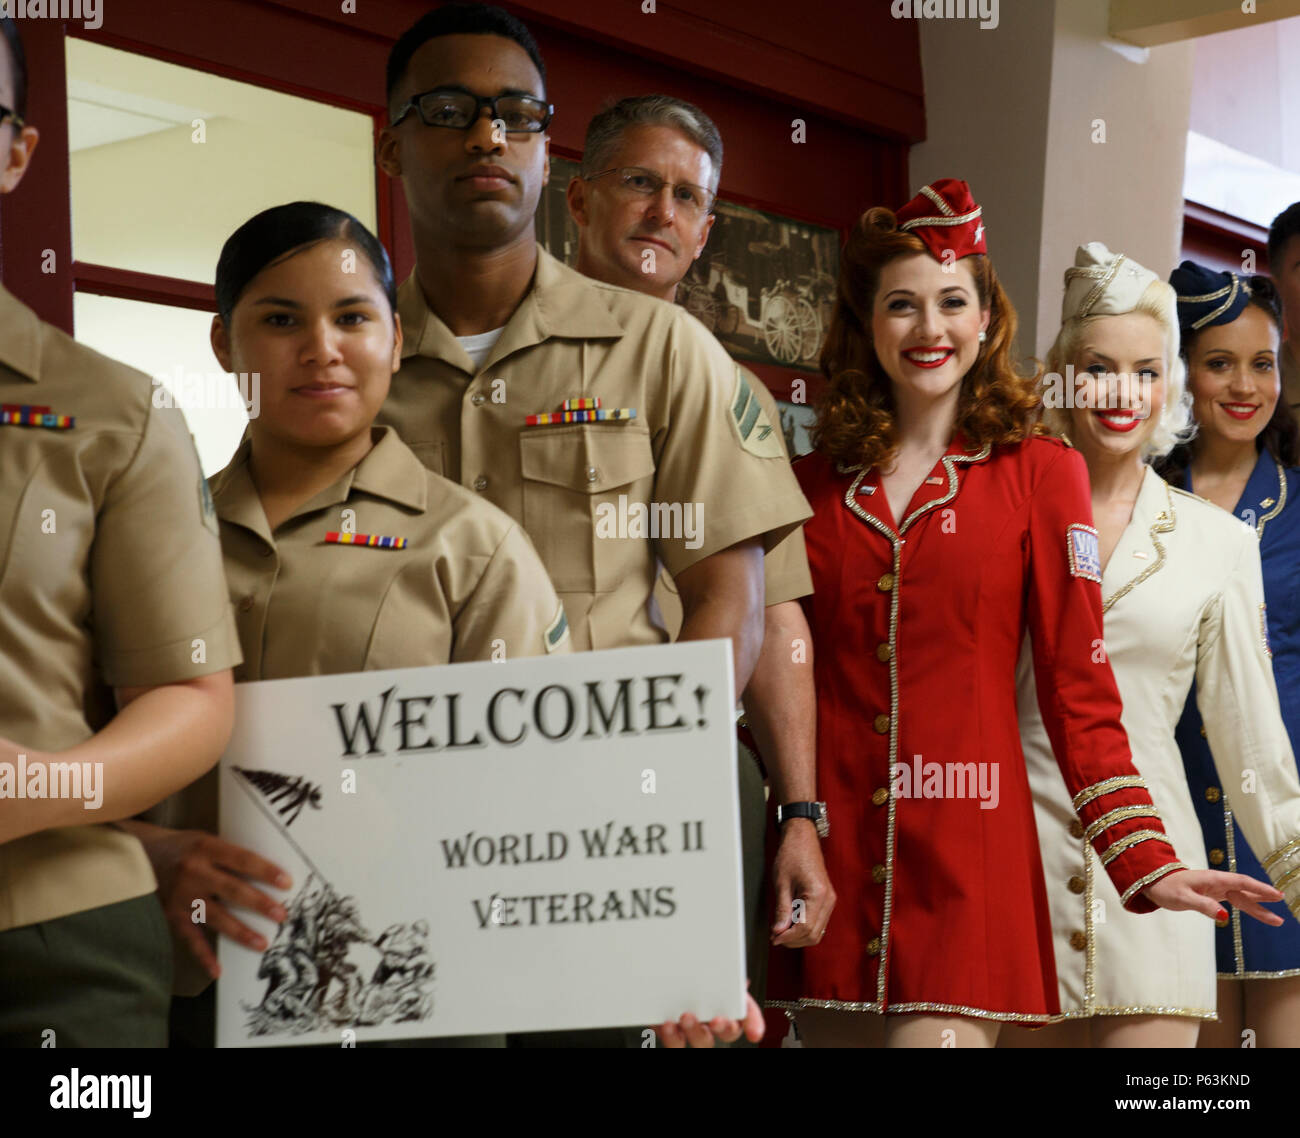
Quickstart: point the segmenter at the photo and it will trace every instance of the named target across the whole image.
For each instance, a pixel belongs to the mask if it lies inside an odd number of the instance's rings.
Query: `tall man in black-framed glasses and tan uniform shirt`
[[[781,451],[733,415],[734,365],[680,307],[592,281],[537,246],[552,112],[523,23],[488,5],[429,13],[394,44],[387,100],[378,163],[402,179],[416,267],[399,291],[403,362],[380,421],[523,524],[575,648],[664,642],[650,603],[662,562],[681,594],[679,639],[731,639],[744,691],[763,639],[763,554],[811,510]],[[623,496],[690,506],[699,532],[598,536],[597,507]],[[745,1031],[762,1031],[753,1001]],[[738,1034],[690,1016],[663,1029],[670,1044]]]

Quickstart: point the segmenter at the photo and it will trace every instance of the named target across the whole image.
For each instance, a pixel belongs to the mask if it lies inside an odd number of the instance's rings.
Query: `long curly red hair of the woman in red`
[[[858,218],[840,260],[840,284],[831,329],[822,349],[828,386],[818,403],[812,443],[846,467],[887,466],[898,437],[889,376],[871,342],[871,310],[880,273],[901,256],[930,251],[898,229],[893,212],[876,207]],[[1020,442],[1036,433],[1040,397],[1037,369],[1020,375],[1011,360],[1015,310],[987,256],[966,258],[982,308],[989,310],[988,338],[962,378],[957,428],[976,447]]]

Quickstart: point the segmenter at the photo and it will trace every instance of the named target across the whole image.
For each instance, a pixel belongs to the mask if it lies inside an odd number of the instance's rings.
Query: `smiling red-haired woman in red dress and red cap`
[[[816,511],[805,609],[840,901],[818,947],[774,953],[770,1004],[809,1046],[992,1046],[1002,1022],[1060,1012],[1015,709],[1026,633],[1079,826],[1124,906],[1213,920],[1221,900],[1279,896],[1186,869],[1164,838],[1105,658],[1087,468],[1035,433],[1014,336],[965,182],[854,228],[818,450],[796,466]]]

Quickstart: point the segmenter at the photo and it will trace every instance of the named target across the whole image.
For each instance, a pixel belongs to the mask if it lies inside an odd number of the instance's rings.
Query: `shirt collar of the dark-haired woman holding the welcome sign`
[[[347,502],[354,492],[386,498],[424,512],[429,503],[429,480],[424,464],[391,427],[372,428],[374,445],[352,470],[318,494],[303,502],[287,522],[304,514]],[[252,441],[244,438],[226,467],[212,476],[212,499],[217,516],[251,529],[274,544],[261,509],[261,498],[248,471]]]

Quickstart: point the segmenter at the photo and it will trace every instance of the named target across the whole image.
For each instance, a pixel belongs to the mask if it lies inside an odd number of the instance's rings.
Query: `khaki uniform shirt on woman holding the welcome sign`
[[[339,481],[274,533],[248,473],[250,445],[212,476],[243,666],[276,680],[571,650],[564,610],[536,550],[510,518],[426,471],[390,428]],[[354,531],[355,541],[326,541]],[[365,537],[406,538],[384,548]],[[150,814],[217,831],[211,771]],[[176,991],[208,983],[188,948]]]

